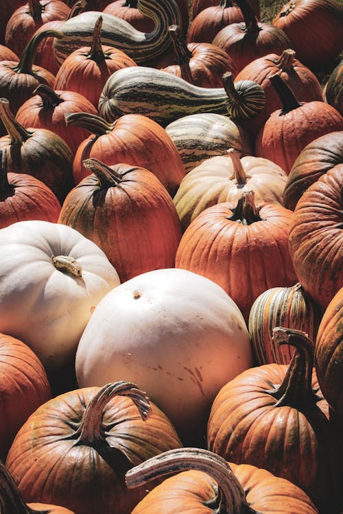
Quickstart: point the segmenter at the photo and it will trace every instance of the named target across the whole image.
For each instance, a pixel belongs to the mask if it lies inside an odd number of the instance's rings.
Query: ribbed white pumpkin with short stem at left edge
[[[46,369],[68,363],[117,271],[92,241],[48,221],[1,229],[0,256],[0,332],[25,341]]]

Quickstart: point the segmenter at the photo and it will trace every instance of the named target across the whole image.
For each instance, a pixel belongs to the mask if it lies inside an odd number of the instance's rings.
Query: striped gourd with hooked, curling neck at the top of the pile
[[[130,23],[111,14],[103,13],[102,45],[115,47],[125,52],[137,64],[148,62],[167,53],[171,47],[169,25],[181,25],[181,15],[175,0],[138,0],[139,12],[152,18],[155,24],[150,33],[139,32]],[[55,57],[62,64],[69,54],[80,48],[90,47],[95,22],[99,12],[88,11],[78,14],[58,27],[62,40],[55,40]]]

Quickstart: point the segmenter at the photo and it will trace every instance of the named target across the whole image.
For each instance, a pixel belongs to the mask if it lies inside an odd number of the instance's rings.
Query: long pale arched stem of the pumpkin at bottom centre
[[[220,493],[215,500],[220,497],[220,507],[216,512],[255,513],[249,508],[246,493],[225,459],[202,448],[177,448],[148,458],[147,461],[128,470],[125,476],[126,485],[132,489],[154,478],[190,469],[209,474],[217,482]]]

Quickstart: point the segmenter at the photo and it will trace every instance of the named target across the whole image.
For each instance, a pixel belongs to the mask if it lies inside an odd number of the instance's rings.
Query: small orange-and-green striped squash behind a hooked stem
[[[322,308],[299,283],[292,287],[273,287],[259,295],[252,304],[248,322],[257,363],[289,364],[294,347],[274,345],[273,328],[281,326],[302,330],[315,343],[322,315]]]

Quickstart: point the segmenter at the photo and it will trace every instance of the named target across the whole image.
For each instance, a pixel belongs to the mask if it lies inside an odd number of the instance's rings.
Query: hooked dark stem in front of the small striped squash
[[[268,391],[277,400],[275,406],[287,405],[300,410],[301,406],[318,402],[320,398],[312,390],[314,347],[307,334],[301,330],[276,327],[273,328],[273,341],[295,347],[283,382]]]

